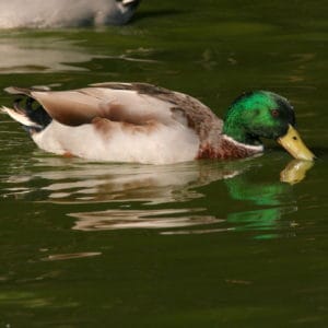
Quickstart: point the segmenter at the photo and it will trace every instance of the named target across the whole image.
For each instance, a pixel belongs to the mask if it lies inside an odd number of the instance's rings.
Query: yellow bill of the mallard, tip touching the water
[[[314,161],[314,153],[304,144],[300,133],[290,125],[285,136],[278,138],[281,144],[296,160]]]

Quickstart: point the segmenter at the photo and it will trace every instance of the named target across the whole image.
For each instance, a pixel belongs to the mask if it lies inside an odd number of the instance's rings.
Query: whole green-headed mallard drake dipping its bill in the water
[[[105,82],[82,89],[10,86],[20,122],[44,151],[91,161],[172,164],[235,160],[263,152],[273,139],[294,159],[315,155],[295,129],[286,98],[269,91],[243,93],[220,119],[197,98],[148,83]]]

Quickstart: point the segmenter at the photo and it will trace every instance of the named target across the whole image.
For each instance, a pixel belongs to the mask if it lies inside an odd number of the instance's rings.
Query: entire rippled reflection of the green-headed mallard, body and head
[[[271,174],[269,180],[261,176],[272,162],[267,157],[156,166],[36,159],[32,172],[12,176],[2,194],[65,209],[67,204],[74,230],[160,229],[165,234],[274,230],[284,213],[297,210],[291,185],[279,183],[279,174],[273,181]],[[305,176],[303,172],[297,177],[298,164],[291,162],[284,169],[297,180]]]

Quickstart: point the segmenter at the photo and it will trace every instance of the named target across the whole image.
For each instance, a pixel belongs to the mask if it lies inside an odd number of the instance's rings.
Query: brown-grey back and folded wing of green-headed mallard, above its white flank
[[[92,124],[95,118],[148,126],[183,125],[200,140],[220,134],[222,121],[201,102],[183,93],[148,83],[106,82],[72,91],[10,87],[42,104],[49,116],[67,126]]]

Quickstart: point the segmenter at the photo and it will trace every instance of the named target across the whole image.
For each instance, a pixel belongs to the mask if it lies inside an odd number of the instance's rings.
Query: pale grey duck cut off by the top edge
[[[25,0],[1,1],[0,28],[121,25],[141,0]]]

